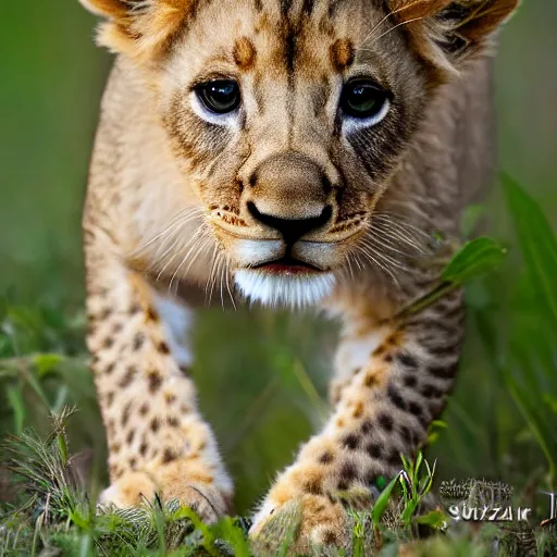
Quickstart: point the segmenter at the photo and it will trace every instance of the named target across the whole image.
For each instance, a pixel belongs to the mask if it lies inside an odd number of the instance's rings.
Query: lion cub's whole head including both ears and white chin
[[[374,208],[432,91],[518,2],[81,1],[145,70],[236,285],[299,305],[373,264]]]

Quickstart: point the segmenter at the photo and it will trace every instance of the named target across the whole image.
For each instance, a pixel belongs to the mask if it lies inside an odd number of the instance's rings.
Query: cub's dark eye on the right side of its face
[[[348,82],[341,95],[341,108],[346,115],[370,119],[374,124],[386,116],[389,107],[388,92],[367,79]]]

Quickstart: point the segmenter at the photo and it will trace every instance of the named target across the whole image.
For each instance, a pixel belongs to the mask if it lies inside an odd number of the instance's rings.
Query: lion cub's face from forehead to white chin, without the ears
[[[214,1],[165,62],[165,128],[236,284],[311,302],[355,257],[426,97],[369,1]],[[366,4],[366,5],[364,5]]]

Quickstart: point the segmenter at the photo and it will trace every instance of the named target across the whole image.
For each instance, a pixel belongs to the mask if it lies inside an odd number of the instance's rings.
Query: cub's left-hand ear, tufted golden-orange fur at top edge
[[[196,0],[79,0],[108,20],[97,41],[139,60],[163,53],[180,33]]]

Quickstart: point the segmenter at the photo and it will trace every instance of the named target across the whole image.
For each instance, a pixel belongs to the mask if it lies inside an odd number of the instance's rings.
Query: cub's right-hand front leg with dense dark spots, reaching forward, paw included
[[[370,508],[380,475],[403,469],[444,409],[463,339],[461,293],[404,322],[377,321],[366,299],[350,302],[337,354],[334,413],[276,480],[251,535],[270,550],[285,515],[301,513],[295,549],[349,548],[347,504]]]

